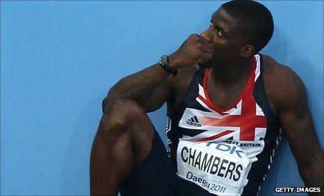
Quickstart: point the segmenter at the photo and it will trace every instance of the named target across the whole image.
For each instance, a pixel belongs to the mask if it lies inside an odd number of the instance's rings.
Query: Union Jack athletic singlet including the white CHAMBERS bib
[[[167,152],[181,179],[214,195],[257,195],[280,140],[262,72],[257,54],[245,89],[226,109],[211,102],[209,69],[195,72],[166,124]]]

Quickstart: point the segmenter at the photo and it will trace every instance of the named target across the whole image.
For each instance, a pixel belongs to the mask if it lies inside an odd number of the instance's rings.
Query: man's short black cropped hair
[[[228,15],[234,17],[240,26],[243,37],[256,53],[261,51],[273,36],[273,15],[266,6],[257,1],[234,0],[222,4]]]

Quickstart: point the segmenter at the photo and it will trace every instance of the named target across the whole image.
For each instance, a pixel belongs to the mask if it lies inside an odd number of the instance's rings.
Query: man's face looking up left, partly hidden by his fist
[[[202,37],[213,43],[213,58],[200,66],[216,67],[239,58],[244,46],[239,32],[237,22],[225,10],[219,8],[213,13],[209,28],[201,33]]]

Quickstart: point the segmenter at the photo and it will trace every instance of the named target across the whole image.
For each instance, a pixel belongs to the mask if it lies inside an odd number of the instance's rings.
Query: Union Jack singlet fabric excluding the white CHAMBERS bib
[[[223,110],[211,102],[206,89],[209,70],[200,68],[175,111],[168,114],[168,153],[175,162],[179,140],[228,142],[243,149],[252,165],[242,195],[257,194],[280,138],[279,122],[266,99],[262,66],[261,54],[255,55],[241,96]]]

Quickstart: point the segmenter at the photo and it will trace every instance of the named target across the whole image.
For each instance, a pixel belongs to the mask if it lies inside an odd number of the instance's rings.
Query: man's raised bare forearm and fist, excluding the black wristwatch
[[[181,47],[169,56],[170,67],[178,70],[190,67],[198,62],[211,58],[212,44],[202,36],[191,35]],[[102,108],[114,99],[131,99],[138,102],[145,111],[155,111],[168,100],[172,91],[170,82],[172,76],[159,65],[152,65],[145,70],[124,77],[109,90],[102,102]]]

